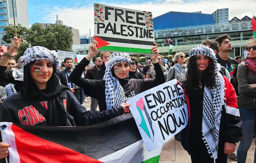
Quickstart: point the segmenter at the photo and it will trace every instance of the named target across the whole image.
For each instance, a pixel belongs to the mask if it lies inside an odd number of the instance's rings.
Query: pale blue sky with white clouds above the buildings
[[[93,3],[151,11],[153,18],[170,11],[211,14],[217,9],[229,8],[229,20],[234,16],[255,15],[255,0],[27,0],[29,24],[55,23],[56,15],[64,25],[79,29],[80,36],[94,34]],[[186,21],[186,20],[180,20]]]

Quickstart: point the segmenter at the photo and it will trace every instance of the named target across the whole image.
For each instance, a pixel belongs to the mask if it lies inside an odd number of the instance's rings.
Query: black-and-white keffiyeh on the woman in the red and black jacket
[[[208,153],[215,160],[218,154],[219,126],[221,121],[221,110],[224,105],[224,78],[218,72],[216,56],[212,49],[205,45],[194,46],[189,51],[189,57],[195,55],[206,55],[213,60],[215,67],[215,81],[217,86],[213,88],[204,87],[203,95],[203,121],[202,135]]]

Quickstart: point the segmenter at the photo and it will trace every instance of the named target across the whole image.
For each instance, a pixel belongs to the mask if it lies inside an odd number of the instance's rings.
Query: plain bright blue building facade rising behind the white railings
[[[154,30],[193,25],[214,24],[212,14],[191,12],[168,12],[153,18]]]

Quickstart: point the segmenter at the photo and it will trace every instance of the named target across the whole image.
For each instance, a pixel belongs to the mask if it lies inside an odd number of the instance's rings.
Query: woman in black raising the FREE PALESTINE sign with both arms
[[[160,64],[157,61],[157,44],[152,48],[151,60],[155,65],[157,77],[155,79],[126,79],[130,71],[131,57],[127,53],[114,52],[110,59],[105,63],[106,70],[103,80],[90,80],[81,78],[81,73],[91,58],[97,54],[98,42],[93,40],[89,47],[89,52],[85,58],[76,66],[70,74],[70,81],[82,87],[85,95],[91,96],[99,101],[99,109],[110,109],[119,106],[131,97],[145,90],[153,88],[165,82]]]

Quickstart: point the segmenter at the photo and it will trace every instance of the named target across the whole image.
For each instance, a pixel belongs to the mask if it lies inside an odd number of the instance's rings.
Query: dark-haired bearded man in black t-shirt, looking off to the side
[[[236,67],[238,62],[235,59],[229,57],[229,52],[232,51],[230,36],[228,34],[223,34],[218,36],[216,41],[219,42],[219,54],[216,55],[217,62],[229,71],[231,77],[230,82],[235,88],[236,94],[238,94],[238,83],[236,81]]]

